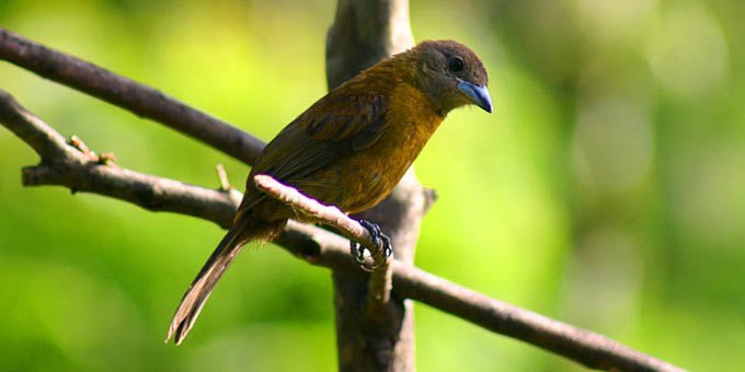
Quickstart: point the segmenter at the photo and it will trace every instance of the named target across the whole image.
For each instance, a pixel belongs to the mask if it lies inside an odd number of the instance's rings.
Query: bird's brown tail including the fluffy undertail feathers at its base
[[[176,345],[186,337],[194,326],[199,312],[211,293],[217,281],[220,280],[225,270],[230,266],[243,245],[253,239],[272,239],[285,225],[285,221],[263,222],[241,219],[222,237],[199,274],[194,278],[184,298],[173,315],[171,326],[165,337],[165,342],[174,337]]]

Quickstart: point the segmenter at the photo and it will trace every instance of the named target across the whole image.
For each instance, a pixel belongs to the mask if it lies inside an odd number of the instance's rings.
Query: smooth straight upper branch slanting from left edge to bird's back
[[[140,117],[164,124],[247,164],[252,164],[264,148],[264,142],[260,139],[156,89],[34,43],[2,27],[0,59]]]

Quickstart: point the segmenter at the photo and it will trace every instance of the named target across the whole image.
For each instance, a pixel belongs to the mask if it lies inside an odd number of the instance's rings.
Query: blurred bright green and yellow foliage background
[[[417,39],[485,61],[494,115],[452,113],[417,161],[440,198],[417,265],[699,371],[745,369],[745,4],[412,1]],[[270,139],[325,91],[333,1],[1,0],[0,25]],[[217,187],[247,166],[0,62],[0,88],[123,166]],[[163,345],[222,231],[60,187],[0,129],[0,370],[330,371],[329,271],[240,256]],[[417,305],[422,371],[577,365]]]

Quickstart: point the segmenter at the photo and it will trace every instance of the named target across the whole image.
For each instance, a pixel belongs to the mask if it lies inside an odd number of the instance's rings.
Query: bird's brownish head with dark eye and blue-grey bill
[[[428,40],[412,51],[419,65],[415,79],[442,114],[469,104],[492,112],[486,69],[471,49],[452,40]]]

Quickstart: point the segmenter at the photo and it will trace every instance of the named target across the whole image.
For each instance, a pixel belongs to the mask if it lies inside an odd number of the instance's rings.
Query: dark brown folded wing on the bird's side
[[[386,128],[389,98],[383,94],[342,94],[324,96],[283,129],[264,149],[251,168],[253,176],[268,174],[289,184],[301,184],[329,163],[367,149]],[[264,198],[247,193],[238,216]]]

